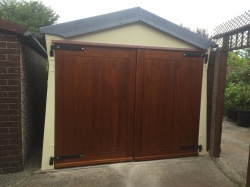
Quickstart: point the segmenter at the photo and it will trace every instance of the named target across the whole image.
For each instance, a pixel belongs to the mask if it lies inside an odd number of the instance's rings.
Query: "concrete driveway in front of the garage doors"
[[[223,122],[222,153],[209,156],[128,162],[40,171],[41,151],[34,149],[25,170],[0,175],[0,186],[83,187],[235,187],[244,186],[250,128]]]

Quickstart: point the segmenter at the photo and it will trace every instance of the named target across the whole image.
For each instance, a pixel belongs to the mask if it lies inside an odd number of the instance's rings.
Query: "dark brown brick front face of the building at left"
[[[0,30],[0,173],[23,169],[20,43]]]

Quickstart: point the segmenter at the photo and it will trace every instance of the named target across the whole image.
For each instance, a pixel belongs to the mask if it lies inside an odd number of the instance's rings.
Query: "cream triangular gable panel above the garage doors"
[[[173,38],[160,30],[143,23],[130,24],[100,32],[74,37],[71,40],[80,42],[111,43],[171,48],[192,48],[194,46]]]

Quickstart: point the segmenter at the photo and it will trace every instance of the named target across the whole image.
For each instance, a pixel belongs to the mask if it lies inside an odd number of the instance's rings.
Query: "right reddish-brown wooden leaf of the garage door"
[[[135,160],[197,155],[203,58],[138,50]]]

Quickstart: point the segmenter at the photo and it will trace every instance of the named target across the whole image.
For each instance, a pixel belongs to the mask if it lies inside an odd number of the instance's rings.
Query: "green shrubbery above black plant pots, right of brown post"
[[[225,109],[250,110],[249,49],[228,54]]]

